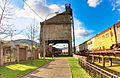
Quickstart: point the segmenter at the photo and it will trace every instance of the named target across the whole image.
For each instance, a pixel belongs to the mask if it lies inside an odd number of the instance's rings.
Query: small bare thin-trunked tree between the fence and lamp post
[[[34,41],[38,37],[38,26],[35,24],[31,24],[30,26],[27,27],[27,32],[26,36],[31,40],[31,64],[32,64],[32,59],[33,59],[33,46],[34,46]]]

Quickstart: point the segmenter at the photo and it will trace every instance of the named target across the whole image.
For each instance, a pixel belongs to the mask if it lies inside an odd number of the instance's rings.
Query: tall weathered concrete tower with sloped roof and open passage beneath
[[[40,53],[44,54],[46,45],[50,43],[67,43],[68,53],[72,56],[72,9],[66,6],[66,10],[56,16],[40,23]],[[46,50],[46,54],[47,54]]]

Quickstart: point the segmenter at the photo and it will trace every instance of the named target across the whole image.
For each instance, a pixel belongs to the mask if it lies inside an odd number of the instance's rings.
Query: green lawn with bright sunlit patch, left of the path
[[[39,68],[40,66],[50,62],[52,59],[46,59],[46,62],[43,62],[42,59],[36,59],[32,61],[22,62],[20,64],[13,64],[0,67],[0,78],[19,78],[20,76],[29,73],[30,71]]]

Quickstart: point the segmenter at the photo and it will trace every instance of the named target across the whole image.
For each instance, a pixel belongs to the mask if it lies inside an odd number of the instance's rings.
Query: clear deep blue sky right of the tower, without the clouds
[[[96,7],[89,6],[87,0],[71,0],[71,4],[75,18],[79,19],[86,29],[94,31],[91,33],[93,34],[92,36],[102,32],[120,20],[119,12],[112,10],[112,1],[110,2],[109,0],[103,0]],[[116,7],[116,9],[119,8],[120,6]],[[84,40],[87,39],[77,38],[76,44]]]

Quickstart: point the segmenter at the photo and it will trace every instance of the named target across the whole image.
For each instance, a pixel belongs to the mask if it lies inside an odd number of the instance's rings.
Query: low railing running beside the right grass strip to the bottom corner
[[[87,62],[86,57],[79,57],[79,65],[93,78],[120,78],[118,75]]]

